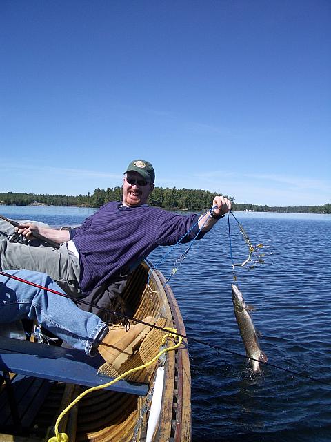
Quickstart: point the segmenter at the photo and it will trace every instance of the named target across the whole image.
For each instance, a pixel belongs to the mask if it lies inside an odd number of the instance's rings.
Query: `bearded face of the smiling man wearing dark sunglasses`
[[[148,195],[153,189],[154,184],[146,182],[138,172],[127,172],[123,180],[123,205],[134,207],[146,204]]]

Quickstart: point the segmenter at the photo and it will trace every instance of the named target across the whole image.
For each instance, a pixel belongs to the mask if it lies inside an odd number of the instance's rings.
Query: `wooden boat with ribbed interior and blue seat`
[[[185,334],[172,290],[165,285],[159,271],[150,273],[146,285],[149,271],[150,263],[143,262],[130,276],[123,294],[134,311],[134,318],[163,318],[159,324]],[[165,332],[152,329],[141,349],[122,370],[157,355],[163,336]],[[167,338],[165,347],[169,345],[173,345],[171,337]],[[3,372],[0,442],[47,441],[54,434],[52,429],[59,413],[86,390],[87,385],[110,381],[110,378],[97,375],[94,364],[97,358],[85,357],[77,350],[12,338],[0,338],[0,347],[0,370]],[[164,380],[160,389],[159,383],[155,387],[155,381],[161,365],[164,366]],[[62,380],[61,370],[65,372]],[[79,370],[83,374],[80,375]],[[76,372],[77,378],[74,377]],[[146,434],[151,432],[148,425],[152,425],[151,407],[157,403],[154,393],[157,389],[161,390],[161,405],[150,440],[190,441],[190,363],[185,340],[179,349],[165,353],[150,367],[131,374],[107,390],[86,394],[63,417],[59,432],[68,434],[69,442],[146,441]]]

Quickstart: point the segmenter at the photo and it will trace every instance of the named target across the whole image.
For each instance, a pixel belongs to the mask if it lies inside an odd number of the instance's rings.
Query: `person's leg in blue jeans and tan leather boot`
[[[26,270],[4,273],[63,293],[45,273]],[[114,369],[123,363],[123,353],[130,357],[132,348],[152,328],[141,323],[130,327],[108,327],[98,316],[79,309],[72,300],[46,289],[0,275],[0,323],[12,323],[24,318],[37,320],[48,332],[72,347],[85,351],[89,356],[101,354]],[[143,321],[152,323],[153,318],[147,317]],[[118,360],[120,354],[121,361]]]

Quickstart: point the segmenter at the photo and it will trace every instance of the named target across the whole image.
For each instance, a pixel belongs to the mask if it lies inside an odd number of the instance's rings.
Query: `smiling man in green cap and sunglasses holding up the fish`
[[[34,223],[23,224],[18,233],[27,239],[37,232],[63,243],[59,249],[29,247],[0,241],[2,269],[30,269],[47,273],[66,293],[87,296],[94,289],[125,279],[159,245],[189,242],[199,229],[205,232],[225,213],[231,202],[217,196],[212,213],[179,215],[147,205],[154,189],[155,173],[150,162],[130,162],[123,178],[123,201],[108,202],[70,231],[55,230]]]

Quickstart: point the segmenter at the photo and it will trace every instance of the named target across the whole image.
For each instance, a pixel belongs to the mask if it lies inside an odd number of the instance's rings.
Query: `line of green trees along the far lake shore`
[[[151,206],[163,209],[183,209],[200,211],[210,209],[212,200],[219,193],[199,189],[177,189],[176,187],[155,187],[150,194],[148,203]],[[225,195],[227,196],[227,195]],[[284,206],[270,207],[258,204],[239,204],[234,202],[234,197],[227,196],[232,201],[233,210],[236,211],[266,211],[289,213],[331,213],[331,204],[323,206]],[[122,189],[117,186],[107,189],[95,189],[87,195],[45,195],[43,193],[0,193],[0,204],[8,206],[28,206],[44,204],[48,206],[85,206],[101,207],[108,201],[121,201]]]

